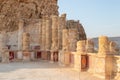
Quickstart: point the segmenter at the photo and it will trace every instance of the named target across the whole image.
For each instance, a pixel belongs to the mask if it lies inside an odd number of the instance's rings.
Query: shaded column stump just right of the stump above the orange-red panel
[[[92,39],[86,40],[86,52],[93,53],[94,52],[94,42]]]

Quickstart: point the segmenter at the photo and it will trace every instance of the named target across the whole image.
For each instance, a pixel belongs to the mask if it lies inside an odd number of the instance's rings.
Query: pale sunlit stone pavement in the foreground
[[[0,80],[102,80],[47,61],[0,63]]]

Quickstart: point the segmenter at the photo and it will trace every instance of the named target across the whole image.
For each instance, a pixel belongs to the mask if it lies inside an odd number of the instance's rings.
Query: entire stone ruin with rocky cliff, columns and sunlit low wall
[[[31,7],[32,6],[32,7]],[[0,60],[48,60],[120,80],[116,43],[99,37],[99,50],[86,39],[82,24],[59,16],[57,0],[0,0]]]

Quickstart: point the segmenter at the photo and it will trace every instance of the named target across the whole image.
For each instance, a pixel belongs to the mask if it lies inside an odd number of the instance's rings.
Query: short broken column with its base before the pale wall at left
[[[29,61],[30,60],[30,34],[23,33],[23,60]]]

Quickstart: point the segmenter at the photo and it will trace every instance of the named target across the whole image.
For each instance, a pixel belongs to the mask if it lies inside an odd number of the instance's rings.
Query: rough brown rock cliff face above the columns
[[[20,18],[58,15],[57,0],[0,0],[0,30],[18,29]]]

